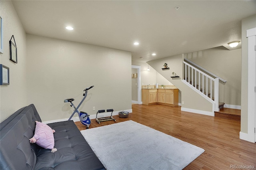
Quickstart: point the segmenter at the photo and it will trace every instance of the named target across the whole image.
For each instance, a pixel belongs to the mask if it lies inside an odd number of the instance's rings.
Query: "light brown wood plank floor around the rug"
[[[230,170],[230,165],[252,165],[256,169],[256,143],[239,139],[239,120],[183,112],[180,106],[160,104],[135,104],[132,105],[132,111],[129,118],[114,116],[116,122],[98,124],[93,119],[90,128],[133,120],[203,148],[205,152],[184,170]],[[85,129],[80,122],[76,122],[76,125],[80,130]]]

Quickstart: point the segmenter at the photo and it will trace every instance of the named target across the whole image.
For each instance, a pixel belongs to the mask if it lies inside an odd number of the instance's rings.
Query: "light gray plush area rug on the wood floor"
[[[132,120],[81,133],[107,170],[182,170],[204,152]]]

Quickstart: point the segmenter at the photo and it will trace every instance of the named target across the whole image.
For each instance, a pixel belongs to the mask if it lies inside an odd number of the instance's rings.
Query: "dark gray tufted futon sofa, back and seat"
[[[56,131],[56,152],[30,144],[36,120],[42,122],[30,104],[0,123],[1,170],[105,170],[71,120],[48,124]]]

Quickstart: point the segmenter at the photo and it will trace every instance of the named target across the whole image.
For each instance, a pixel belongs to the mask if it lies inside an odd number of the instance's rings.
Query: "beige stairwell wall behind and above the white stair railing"
[[[227,81],[219,81],[220,102],[241,106],[241,49],[221,46],[184,54],[184,58]]]

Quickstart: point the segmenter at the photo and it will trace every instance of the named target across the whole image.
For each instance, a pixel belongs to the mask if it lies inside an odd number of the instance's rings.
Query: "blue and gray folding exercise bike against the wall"
[[[70,103],[71,103],[70,106],[75,109],[74,112],[72,113],[72,115],[70,116],[70,118],[68,119],[68,121],[70,121],[71,118],[74,116],[74,114],[77,112],[77,113],[78,113],[78,116],[79,116],[79,119],[80,119],[80,122],[81,122],[83,125],[87,126],[86,129],[88,129],[89,126],[90,126],[90,124],[91,124],[91,120],[90,120],[90,117],[89,117],[90,115],[87,114],[86,112],[78,111],[78,108],[79,108],[79,107],[81,106],[81,104],[84,102],[84,100],[85,100],[85,98],[86,98],[86,96],[87,96],[88,90],[90,90],[90,89],[93,88],[93,87],[94,87],[94,86],[90,86],[90,87],[84,89],[84,91],[85,91],[84,94],[83,94],[84,98],[83,98],[82,101],[78,104],[77,108],[76,108],[76,106],[72,103],[72,101],[74,101],[73,98],[67,98],[67,99],[64,100],[65,103],[66,103],[66,102],[70,102]]]

